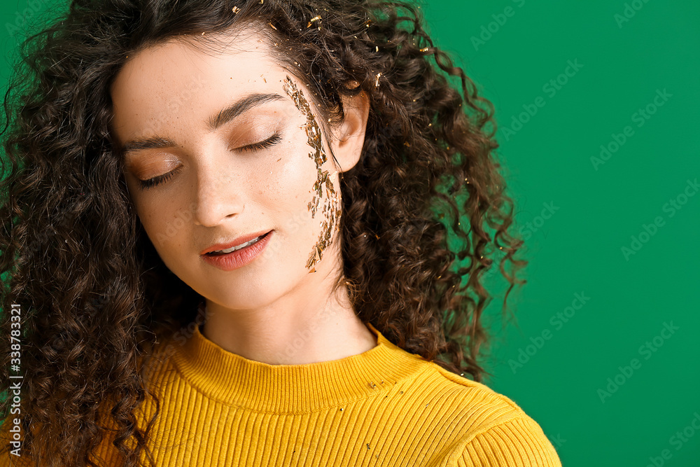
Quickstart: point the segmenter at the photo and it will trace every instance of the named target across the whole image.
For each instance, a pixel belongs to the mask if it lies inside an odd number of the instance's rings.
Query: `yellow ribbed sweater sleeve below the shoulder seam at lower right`
[[[516,417],[474,435],[457,466],[561,467],[561,461],[536,421]]]

